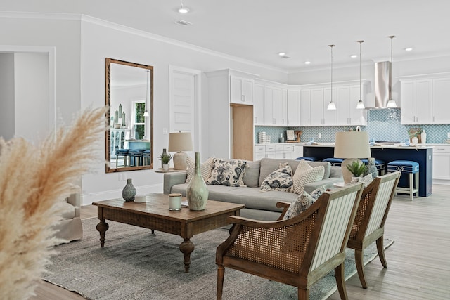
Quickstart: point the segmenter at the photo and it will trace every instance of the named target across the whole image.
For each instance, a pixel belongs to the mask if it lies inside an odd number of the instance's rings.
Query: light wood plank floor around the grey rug
[[[346,282],[349,299],[450,299],[450,185],[434,185],[430,197],[394,198],[385,237],[395,242],[385,251],[388,268],[376,258],[365,267],[368,289],[358,275]],[[82,207],[82,218],[96,216],[96,207]],[[83,299],[42,282],[33,300]],[[335,292],[329,298],[338,300]]]

